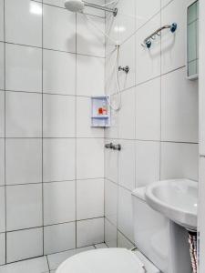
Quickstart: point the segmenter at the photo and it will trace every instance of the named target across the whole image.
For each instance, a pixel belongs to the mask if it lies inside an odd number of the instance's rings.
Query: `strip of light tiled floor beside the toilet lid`
[[[67,258],[95,248],[107,248],[106,244],[99,244],[87,248],[77,248],[48,255],[41,258],[32,258],[0,267],[0,273],[55,273],[56,268]]]

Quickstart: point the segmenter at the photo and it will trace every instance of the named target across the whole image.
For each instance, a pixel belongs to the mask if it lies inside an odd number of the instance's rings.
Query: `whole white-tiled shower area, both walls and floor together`
[[[0,273],[133,248],[132,190],[199,179],[190,0],[67,2],[0,0]]]

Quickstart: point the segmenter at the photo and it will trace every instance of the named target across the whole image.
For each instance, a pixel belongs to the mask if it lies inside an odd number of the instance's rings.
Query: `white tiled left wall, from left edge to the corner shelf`
[[[0,0],[0,265],[104,242],[105,41],[63,4]]]

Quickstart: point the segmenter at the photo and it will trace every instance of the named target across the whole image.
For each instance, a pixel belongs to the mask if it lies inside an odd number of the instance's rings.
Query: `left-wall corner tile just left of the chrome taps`
[[[77,139],[77,178],[104,177],[104,140]]]

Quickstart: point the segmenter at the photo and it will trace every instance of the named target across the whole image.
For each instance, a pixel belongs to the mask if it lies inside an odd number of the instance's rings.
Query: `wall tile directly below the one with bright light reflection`
[[[42,49],[5,45],[5,89],[42,92]]]

